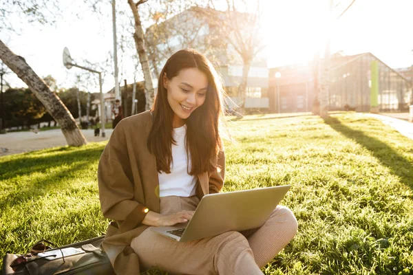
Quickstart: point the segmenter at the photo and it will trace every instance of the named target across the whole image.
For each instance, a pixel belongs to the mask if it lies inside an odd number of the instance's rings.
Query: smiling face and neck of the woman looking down
[[[178,76],[168,79],[163,76],[167,100],[173,111],[173,128],[185,124],[184,120],[205,102],[208,78],[198,68],[182,69]]]

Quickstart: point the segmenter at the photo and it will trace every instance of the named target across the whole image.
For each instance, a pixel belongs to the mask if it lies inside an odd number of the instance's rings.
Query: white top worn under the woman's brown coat
[[[159,197],[178,196],[191,197],[195,195],[196,177],[188,174],[191,170],[191,159],[187,159],[185,137],[187,125],[173,129],[171,173],[158,173]]]

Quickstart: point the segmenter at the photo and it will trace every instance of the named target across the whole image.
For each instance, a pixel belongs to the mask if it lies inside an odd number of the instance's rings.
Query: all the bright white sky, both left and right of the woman
[[[23,56],[39,76],[52,75],[59,87],[79,85],[81,89],[98,91],[98,77],[91,76],[88,83],[76,83],[76,74],[85,73],[73,67],[63,66],[63,48],[68,47],[74,61],[79,65],[104,63],[111,66],[104,75],[103,91],[114,87],[112,5],[106,0],[101,5],[103,15],[94,14],[83,0],[60,1],[63,16],[54,25],[27,23],[19,18],[10,21],[17,26],[19,34],[0,33],[0,39],[15,54]],[[126,1],[117,1],[118,35],[120,25],[131,19]],[[150,2],[150,1],[149,1]],[[335,0],[334,18],[351,3],[351,0]],[[339,3],[339,4],[338,4]],[[338,4],[338,5],[337,5]],[[410,67],[413,65],[413,27],[411,13],[412,0],[356,0],[349,10],[332,24],[326,23],[328,0],[262,0],[262,32],[268,67],[278,67],[296,63],[306,63],[313,59],[315,52],[324,54],[326,32],[331,31],[331,53],[343,51],[345,54],[372,52],[390,67]],[[75,16],[73,11],[76,11]],[[148,27],[149,25],[144,25]],[[132,29],[129,29],[133,31]],[[118,38],[120,39],[120,38]],[[119,79],[134,80],[134,45],[127,50],[118,46]],[[88,61],[90,64],[85,63]],[[136,75],[141,80],[142,74]],[[6,80],[13,87],[25,84],[9,74]]]

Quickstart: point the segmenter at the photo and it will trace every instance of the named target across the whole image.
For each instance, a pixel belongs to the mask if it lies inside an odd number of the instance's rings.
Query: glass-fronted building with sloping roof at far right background
[[[332,66],[330,70],[328,97],[330,110],[370,111],[372,86],[370,65],[372,61],[377,61],[379,111],[407,111],[412,101],[412,87],[404,76],[370,53],[337,57],[334,63],[340,63],[340,59],[342,62],[344,58],[345,62]]]

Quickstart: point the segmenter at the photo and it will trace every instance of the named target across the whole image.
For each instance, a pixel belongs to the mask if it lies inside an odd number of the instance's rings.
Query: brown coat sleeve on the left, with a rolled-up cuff
[[[134,180],[122,121],[100,156],[98,186],[103,216],[118,221],[121,231],[135,228],[145,218],[147,208],[134,200]]]

